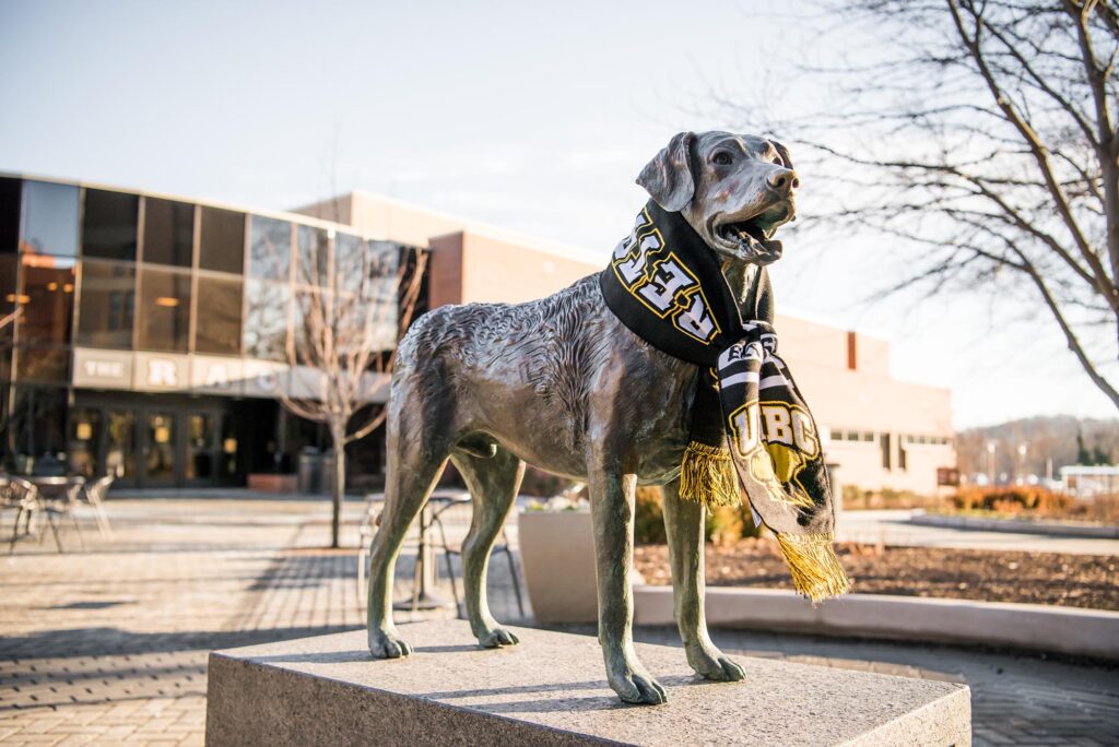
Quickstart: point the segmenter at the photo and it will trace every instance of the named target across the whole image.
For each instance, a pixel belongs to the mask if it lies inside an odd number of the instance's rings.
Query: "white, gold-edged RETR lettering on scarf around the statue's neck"
[[[610,266],[622,286],[660,319],[690,338],[711,344],[718,322],[695,274],[667,246],[647,209],[629,236],[618,243]]]

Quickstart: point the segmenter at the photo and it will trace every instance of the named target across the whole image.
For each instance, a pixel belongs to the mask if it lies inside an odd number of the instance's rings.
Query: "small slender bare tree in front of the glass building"
[[[333,454],[331,547],[337,548],[346,494],[346,446],[386,415],[374,405],[387,387],[396,342],[420,297],[427,255],[388,242],[311,231],[295,253],[294,330],[286,357],[292,377],[283,406],[323,423]]]

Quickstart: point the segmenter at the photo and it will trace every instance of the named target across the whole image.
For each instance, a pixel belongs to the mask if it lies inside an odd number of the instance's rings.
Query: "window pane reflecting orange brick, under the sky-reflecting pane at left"
[[[74,319],[74,259],[39,255],[23,256],[23,290],[17,301],[23,309],[19,319],[19,342],[67,344]]]

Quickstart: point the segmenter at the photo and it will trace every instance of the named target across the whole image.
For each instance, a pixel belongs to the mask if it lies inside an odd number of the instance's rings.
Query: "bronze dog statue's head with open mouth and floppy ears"
[[[730,132],[680,132],[637,183],[679,212],[724,259],[768,265],[781,258],[773,233],[793,219],[800,186],[788,149]]]

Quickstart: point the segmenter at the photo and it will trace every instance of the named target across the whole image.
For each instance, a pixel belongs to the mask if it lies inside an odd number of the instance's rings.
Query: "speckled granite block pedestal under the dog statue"
[[[206,740],[225,745],[969,745],[966,685],[737,658],[744,682],[698,679],[683,649],[638,644],[668,690],[626,706],[593,637],[514,628],[482,650],[461,621],[399,626],[407,659],[364,631],[210,654]],[[717,639],[717,636],[716,636]]]

